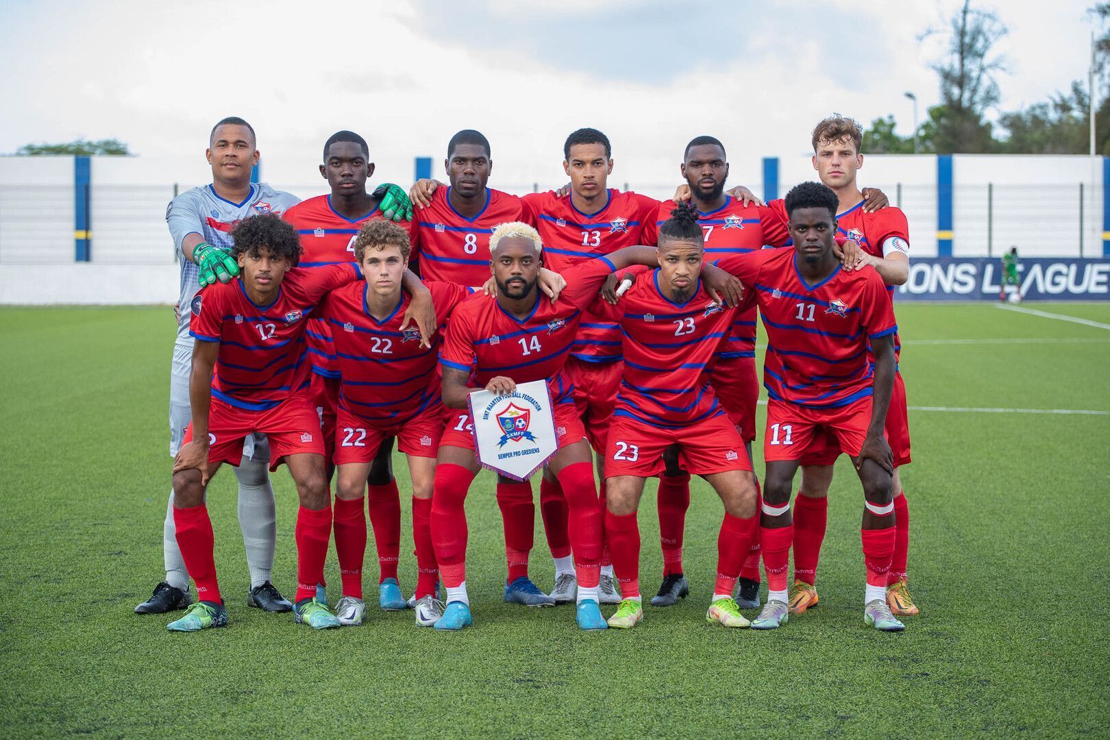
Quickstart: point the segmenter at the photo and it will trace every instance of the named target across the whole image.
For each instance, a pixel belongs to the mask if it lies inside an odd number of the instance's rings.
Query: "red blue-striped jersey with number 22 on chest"
[[[444,321],[471,290],[455,283],[425,283],[438,321]],[[340,407],[370,424],[405,422],[440,401],[436,358],[440,336],[432,347],[420,346],[420,331],[401,331],[411,301],[401,301],[379,322],[366,307],[366,285],[353,283],[333,291],[317,311],[333,337],[340,373]]]

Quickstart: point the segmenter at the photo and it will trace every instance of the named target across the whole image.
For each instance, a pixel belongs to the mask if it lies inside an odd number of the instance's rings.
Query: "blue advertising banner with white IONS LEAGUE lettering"
[[[1110,300],[1110,257],[1022,257],[1018,265],[1025,301]],[[909,280],[896,301],[998,301],[999,257],[910,257]]]

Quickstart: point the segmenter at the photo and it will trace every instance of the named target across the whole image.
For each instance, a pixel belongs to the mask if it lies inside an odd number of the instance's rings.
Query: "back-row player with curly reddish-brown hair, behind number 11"
[[[872,267],[887,286],[887,300],[894,307],[894,291],[909,278],[909,229],[906,214],[888,206],[868,212],[865,195],[856,183],[864,164],[859,152],[862,141],[858,123],[834,115],[814,129],[814,169],[823,183],[837,194],[837,232],[859,243],[862,260],[857,268]],[[773,202],[786,220],[783,202]],[[887,602],[896,615],[916,615],[907,584],[909,555],[909,505],[902,488],[900,468],[910,463],[909,416],[906,408],[906,385],[898,372],[901,349],[898,334],[894,335],[895,378],[887,412],[886,432],[894,453],[895,550],[887,579]],[[874,359],[872,359],[874,364]],[[820,439],[824,439],[821,444]],[[817,564],[828,510],[828,488],[833,480],[833,463],[840,448],[830,434],[824,434],[801,458],[801,485],[794,511],[794,584],[790,610],[801,614],[817,604]]]

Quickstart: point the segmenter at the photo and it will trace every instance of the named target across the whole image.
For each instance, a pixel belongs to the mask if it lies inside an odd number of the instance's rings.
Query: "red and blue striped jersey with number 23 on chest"
[[[619,322],[624,374],[614,416],[658,427],[682,427],[724,413],[705,373],[736,316],[754,305],[745,296],[735,308],[717,306],[698,281],[685,303],[659,290],[659,271],[636,277],[619,303],[594,305]]]

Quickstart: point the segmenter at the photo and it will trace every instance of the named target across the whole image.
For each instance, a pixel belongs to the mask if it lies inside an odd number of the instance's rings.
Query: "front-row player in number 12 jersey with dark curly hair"
[[[294,621],[314,629],[337,627],[335,616],[316,601],[332,511],[304,328],[324,294],[360,272],[350,263],[295,270],[301,254],[296,231],[276,214],[248,219],[231,235],[241,277],[216,282],[190,302],[192,422],[173,464],[173,519],[199,600],[167,627],[192,632],[228,624],[205,491],[220,465],[240,462],[244,439],[255,433],[270,440],[271,469],[289,465],[301,503]]]

